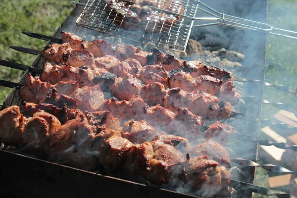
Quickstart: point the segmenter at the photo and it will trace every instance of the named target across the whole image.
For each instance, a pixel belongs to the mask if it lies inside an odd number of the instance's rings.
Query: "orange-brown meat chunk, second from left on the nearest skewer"
[[[60,121],[54,115],[38,110],[27,120],[22,143],[27,148],[47,149],[49,136],[60,126]]]

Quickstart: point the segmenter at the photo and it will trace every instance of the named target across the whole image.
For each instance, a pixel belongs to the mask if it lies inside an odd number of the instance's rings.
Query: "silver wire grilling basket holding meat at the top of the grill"
[[[170,0],[169,0],[170,1]],[[166,1],[164,1],[165,4]],[[170,1],[171,2],[171,1]],[[198,10],[198,3],[192,0],[181,0],[185,10],[185,14],[190,17],[195,17]],[[160,30],[157,30],[156,23],[152,27],[152,32],[146,33],[146,31],[130,31],[121,28],[120,25],[115,24],[116,19],[110,18],[110,12],[105,11],[107,2],[104,0],[88,0],[87,6],[84,7],[80,16],[78,17],[76,24],[89,28],[104,34],[108,34],[114,37],[127,39],[133,42],[138,42],[150,46],[157,46],[163,49],[172,49],[180,52],[185,52],[190,38],[191,30],[194,24],[194,20],[182,18],[177,23],[171,23],[170,28],[164,28],[164,22]],[[154,16],[150,16],[152,19]],[[158,15],[156,15],[158,17]],[[124,21],[125,16],[122,18],[121,23]],[[149,21],[148,21],[149,22]],[[133,23],[131,23],[133,24]],[[138,25],[139,28],[148,29],[148,23],[145,25]],[[151,29],[151,27],[149,27]]]

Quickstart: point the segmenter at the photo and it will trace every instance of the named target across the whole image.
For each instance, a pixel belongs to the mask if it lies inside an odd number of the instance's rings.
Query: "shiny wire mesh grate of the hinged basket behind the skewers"
[[[157,2],[162,2],[162,6],[171,6],[171,4],[176,1],[164,0]],[[198,7],[196,1],[181,0],[178,2],[183,6],[185,15],[192,17],[196,15]],[[110,7],[110,1],[88,0],[76,23],[104,34],[146,45],[181,52],[186,50],[194,23],[193,19],[181,17],[178,20],[171,20],[169,17],[172,17],[172,15],[164,16],[162,15],[162,11],[153,10],[149,15],[140,14],[140,17],[147,18],[145,22],[139,23],[136,17],[128,18],[129,16],[119,12],[113,14],[110,11],[110,9],[114,8],[113,6]],[[127,13],[129,9],[130,8],[127,8],[125,13]],[[166,12],[166,10],[164,10],[164,12]],[[161,17],[163,19],[162,23],[159,22]],[[165,23],[165,21],[170,21],[170,23]],[[128,29],[124,26],[128,27]],[[131,30],[131,28],[133,29]]]

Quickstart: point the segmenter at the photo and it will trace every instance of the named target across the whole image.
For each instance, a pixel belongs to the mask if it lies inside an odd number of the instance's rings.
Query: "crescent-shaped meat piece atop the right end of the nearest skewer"
[[[207,139],[189,150],[190,156],[207,155],[210,159],[217,161],[220,165],[231,167],[229,154],[220,143]]]

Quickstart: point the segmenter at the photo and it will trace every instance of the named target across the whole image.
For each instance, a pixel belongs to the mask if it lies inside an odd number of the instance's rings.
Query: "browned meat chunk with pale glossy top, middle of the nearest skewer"
[[[102,138],[96,139],[93,148],[99,153],[99,163],[110,167],[112,171],[122,168],[123,163],[135,150],[133,143],[122,138],[120,132],[113,130],[107,130]]]

